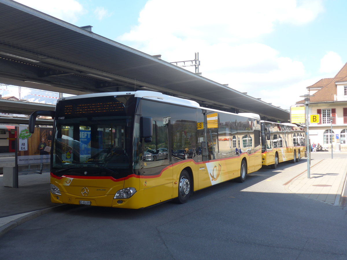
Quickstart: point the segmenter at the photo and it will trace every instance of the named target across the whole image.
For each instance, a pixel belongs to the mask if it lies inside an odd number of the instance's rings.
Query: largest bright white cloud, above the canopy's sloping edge
[[[323,11],[317,0],[150,0],[138,25],[117,41],[169,62],[193,60],[199,52],[202,76],[289,109],[299,95],[285,102],[278,97],[298,88],[291,85],[305,78],[304,65],[262,44],[261,36],[279,24],[309,23]]]

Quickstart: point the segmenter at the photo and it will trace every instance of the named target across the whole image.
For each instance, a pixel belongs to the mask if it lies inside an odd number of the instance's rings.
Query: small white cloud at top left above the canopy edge
[[[83,15],[86,10],[75,0],[15,0],[18,3],[29,6],[45,14],[54,16],[58,19],[75,23],[79,16]]]

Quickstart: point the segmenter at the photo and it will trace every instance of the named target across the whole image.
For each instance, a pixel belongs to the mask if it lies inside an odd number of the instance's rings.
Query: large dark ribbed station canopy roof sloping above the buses
[[[11,0],[0,0],[0,83],[74,95],[153,90],[288,122],[289,112]],[[1,99],[0,99],[1,100]],[[2,113],[37,110],[23,102]],[[48,107],[43,110],[54,110]]]

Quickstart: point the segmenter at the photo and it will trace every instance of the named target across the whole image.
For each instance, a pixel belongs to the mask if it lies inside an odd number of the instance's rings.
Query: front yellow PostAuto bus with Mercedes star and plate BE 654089
[[[54,118],[51,201],[144,208],[261,168],[260,117],[200,107],[152,91],[60,98]]]

